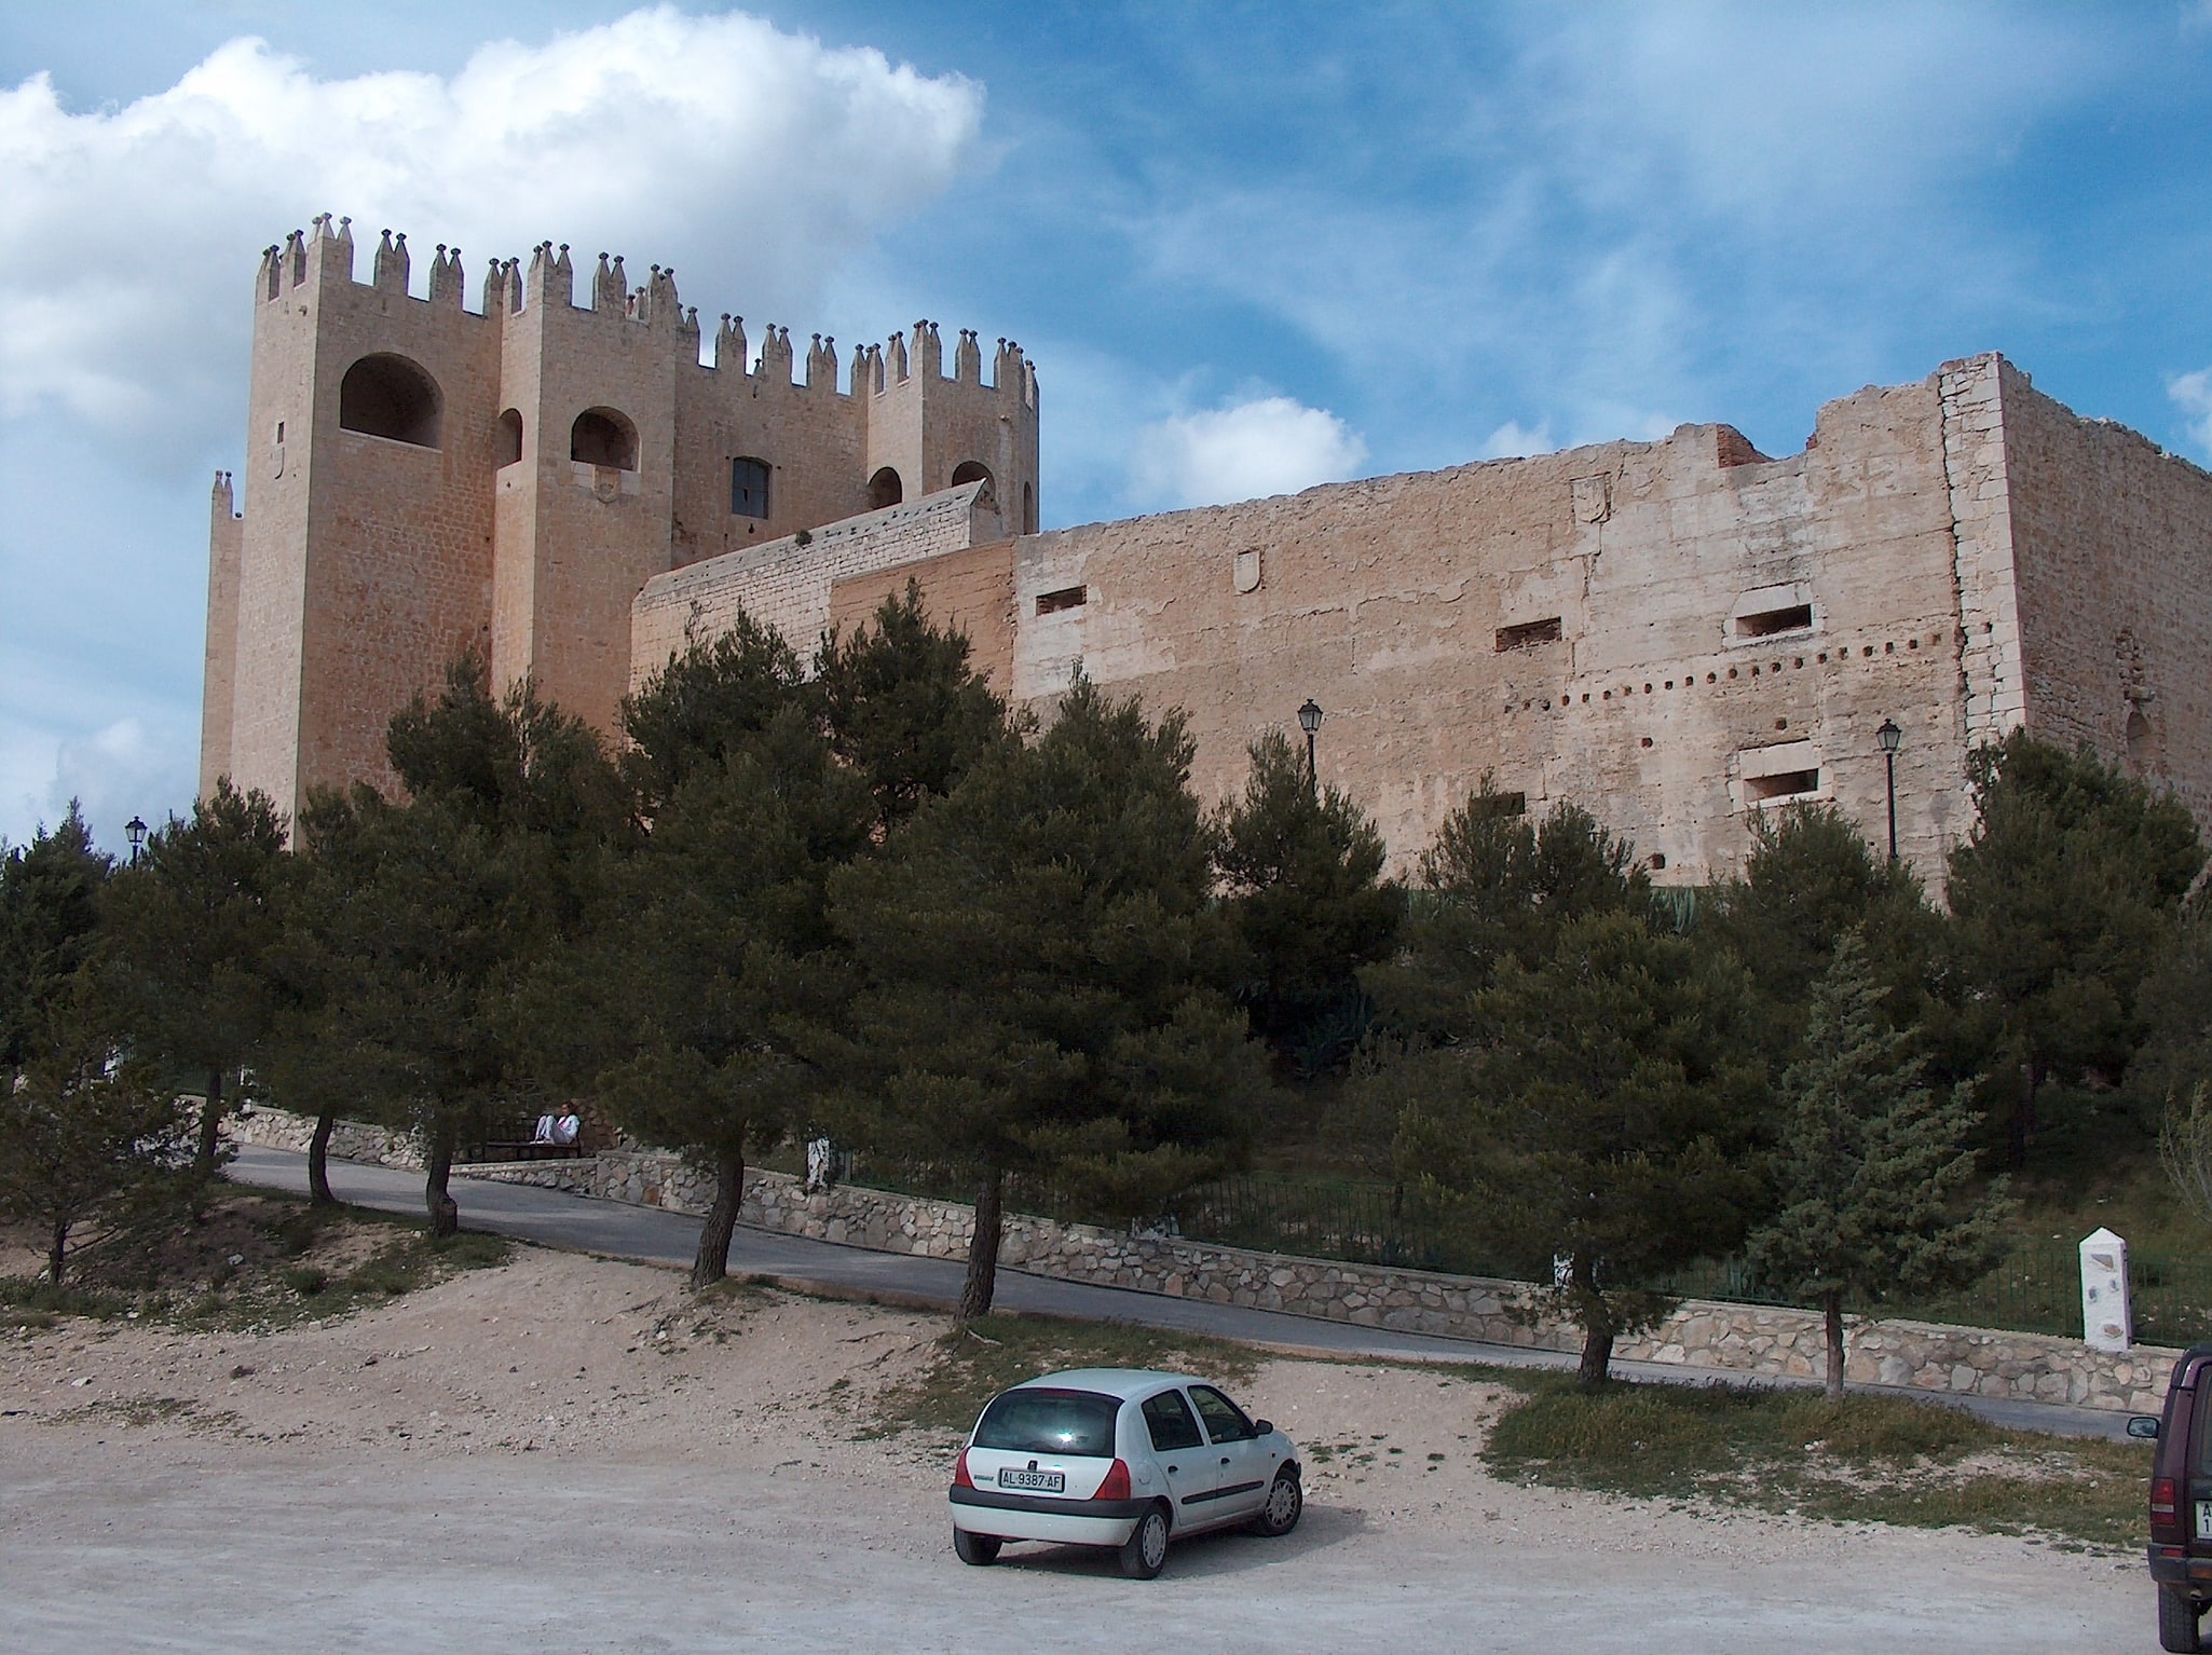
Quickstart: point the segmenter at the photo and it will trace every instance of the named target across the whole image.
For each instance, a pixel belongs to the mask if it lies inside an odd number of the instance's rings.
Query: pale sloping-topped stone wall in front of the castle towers
[[[743,608],[774,626],[803,657],[830,624],[830,589],[867,571],[964,551],[998,533],[998,511],[978,485],[869,511],[810,533],[748,547],[655,575],[630,611],[630,681],[644,684],[684,648],[688,628],[726,633]]]

